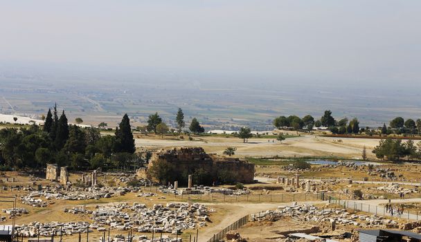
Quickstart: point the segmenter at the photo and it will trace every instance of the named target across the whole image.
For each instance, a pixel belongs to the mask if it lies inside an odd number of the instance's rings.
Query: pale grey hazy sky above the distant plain
[[[420,0],[0,0],[0,61],[413,84],[420,13]]]

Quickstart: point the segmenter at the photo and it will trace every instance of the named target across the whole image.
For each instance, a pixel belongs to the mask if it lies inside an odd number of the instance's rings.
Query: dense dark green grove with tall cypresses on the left
[[[127,169],[139,166],[147,156],[136,151],[130,120],[123,116],[115,136],[101,136],[94,127],[82,129],[68,123],[66,114],[48,109],[44,127],[6,128],[0,130],[0,169],[42,171],[56,163],[71,169]]]

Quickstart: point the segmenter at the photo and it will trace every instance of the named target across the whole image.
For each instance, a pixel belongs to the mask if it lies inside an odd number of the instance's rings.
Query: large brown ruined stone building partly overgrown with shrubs
[[[156,162],[168,162],[170,166],[169,182],[178,180],[180,185],[187,185],[188,175],[192,175],[195,185],[213,183],[253,183],[254,164],[238,158],[225,158],[208,154],[201,147],[163,149],[152,154],[148,169]]]

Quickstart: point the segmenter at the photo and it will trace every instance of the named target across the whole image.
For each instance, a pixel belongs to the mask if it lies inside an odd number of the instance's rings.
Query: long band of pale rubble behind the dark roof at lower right
[[[354,225],[361,228],[386,227],[397,228],[397,221],[377,215],[350,214],[343,209],[319,209],[314,205],[292,205],[279,207],[278,210],[268,210],[251,216],[251,221],[277,221],[284,217],[294,217],[303,222],[314,223],[339,223],[342,225]]]

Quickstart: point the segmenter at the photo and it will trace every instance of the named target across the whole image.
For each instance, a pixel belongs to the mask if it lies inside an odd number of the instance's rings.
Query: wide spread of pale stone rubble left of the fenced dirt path
[[[209,214],[215,212],[208,210],[205,205],[184,203],[156,204],[147,207],[144,204],[112,203],[98,205],[96,210],[85,210],[84,207],[73,207],[64,212],[73,214],[91,214],[92,229],[105,231],[108,225],[114,230],[137,230],[138,232],[164,232],[175,233],[183,230],[195,229],[197,226],[206,226]]]

